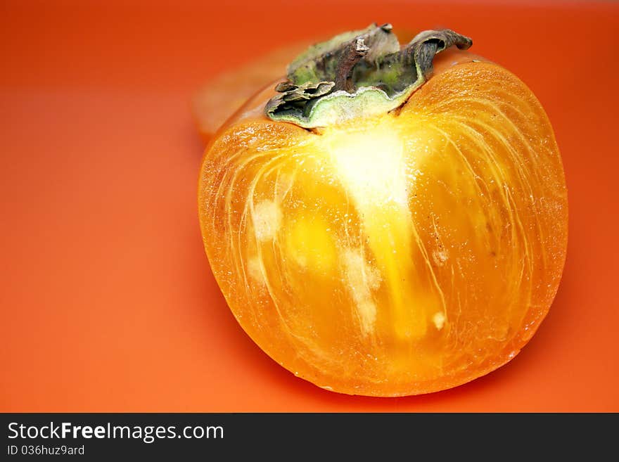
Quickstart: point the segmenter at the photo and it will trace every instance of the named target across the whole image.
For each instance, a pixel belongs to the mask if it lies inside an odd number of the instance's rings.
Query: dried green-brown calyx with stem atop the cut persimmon
[[[390,24],[345,32],[298,56],[264,110],[305,128],[387,113],[426,82],[436,54],[472,44],[448,29],[426,30],[403,47]]]

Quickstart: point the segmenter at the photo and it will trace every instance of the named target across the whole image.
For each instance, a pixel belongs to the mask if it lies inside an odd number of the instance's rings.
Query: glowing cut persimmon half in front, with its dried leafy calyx
[[[561,155],[530,89],[471,44],[346,32],[212,137],[198,187],[212,272],[296,376],[444,390],[508,362],[546,316],[566,258]]]

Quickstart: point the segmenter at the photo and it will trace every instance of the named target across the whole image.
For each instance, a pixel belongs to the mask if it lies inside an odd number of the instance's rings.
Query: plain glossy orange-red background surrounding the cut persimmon
[[[619,411],[618,4],[223,3],[2,1],[0,411]],[[198,229],[193,92],[373,21],[473,37],[542,101],[568,181],[540,330],[499,371],[421,397],[335,394],[278,366],[227,309]]]

